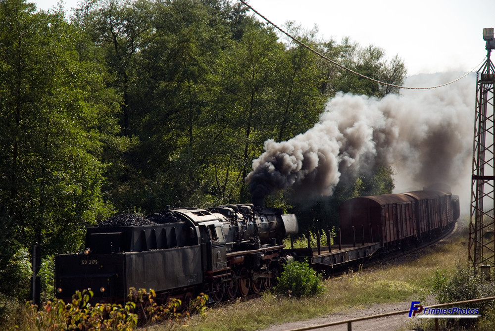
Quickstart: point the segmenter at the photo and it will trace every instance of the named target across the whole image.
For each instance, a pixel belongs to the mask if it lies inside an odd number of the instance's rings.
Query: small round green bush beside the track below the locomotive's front
[[[317,295],[324,289],[321,275],[309,268],[306,262],[294,261],[286,264],[277,280],[275,290],[278,293],[297,298]]]

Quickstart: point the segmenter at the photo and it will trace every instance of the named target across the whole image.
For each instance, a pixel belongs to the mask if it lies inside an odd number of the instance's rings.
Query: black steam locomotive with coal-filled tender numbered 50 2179
[[[298,230],[295,215],[252,204],[169,209],[147,221],[88,228],[84,252],[55,256],[56,296],[91,288],[95,302],[121,302],[135,287],[162,300],[205,292],[220,302],[258,293],[287,258],[284,237]]]

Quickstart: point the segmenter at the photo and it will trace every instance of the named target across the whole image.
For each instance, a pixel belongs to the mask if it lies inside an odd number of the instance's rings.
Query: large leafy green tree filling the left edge
[[[0,4],[0,201],[9,241],[75,250],[88,224],[109,215],[100,158],[119,141],[119,99],[104,70],[78,56],[79,32],[62,11]]]

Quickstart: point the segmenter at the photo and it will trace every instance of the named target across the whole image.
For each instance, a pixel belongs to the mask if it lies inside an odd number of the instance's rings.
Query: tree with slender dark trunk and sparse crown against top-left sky
[[[137,124],[130,106],[136,57],[150,42],[153,13],[154,1],[150,0],[85,0],[73,17],[73,23],[100,48],[112,75],[111,86],[122,95],[120,125],[127,137]]]

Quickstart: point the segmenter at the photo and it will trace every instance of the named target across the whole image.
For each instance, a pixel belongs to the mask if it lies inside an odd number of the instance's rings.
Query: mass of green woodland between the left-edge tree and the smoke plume
[[[394,92],[341,83],[345,73],[281,42],[229,1],[88,1],[77,18],[124,96],[122,132],[133,144],[115,159],[105,186],[119,210],[249,202],[244,179],[267,139],[309,129],[327,97],[344,87]],[[377,47],[320,41],[317,30],[294,23],[287,28],[346,64],[365,61],[382,76],[395,73],[394,83],[405,75]],[[403,69],[400,59],[394,63]]]

